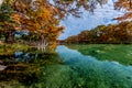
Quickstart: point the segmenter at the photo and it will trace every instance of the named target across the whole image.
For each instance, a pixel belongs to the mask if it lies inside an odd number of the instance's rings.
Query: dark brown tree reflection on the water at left
[[[12,87],[18,82],[19,86],[34,86],[40,81],[42,69],[48,64],[62,63],[56,53],[42,53],[37,50],[28,52],[14,52],[10,55],[0,55],[0,87]],[[15,86],[18,86],[15,84]]]

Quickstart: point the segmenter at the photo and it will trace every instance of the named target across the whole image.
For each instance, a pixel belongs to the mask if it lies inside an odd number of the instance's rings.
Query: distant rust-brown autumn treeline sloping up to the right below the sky
[[[132,22],[99,25],[92,30],[82,31],[78,35],[69,36],[65,43],[132,43]]]

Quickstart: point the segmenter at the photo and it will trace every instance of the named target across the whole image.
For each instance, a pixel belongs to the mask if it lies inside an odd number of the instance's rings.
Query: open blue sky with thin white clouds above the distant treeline
[[[117,21],[112,19],[124,14],[124,11],[114,10],[113,1],[116,0],[108,0],[108,3],[102,8],[98,6],[98,9],[95,10],[95,14],[90,14],[89,12],[82,10],[81,18],[69,15],[61,22],[61,25],[64,25],[65,30],[59,38],[64,40],[70,35],[76,35],[84,30],[90,30],[100,24],[107,25],[117,23]]]

